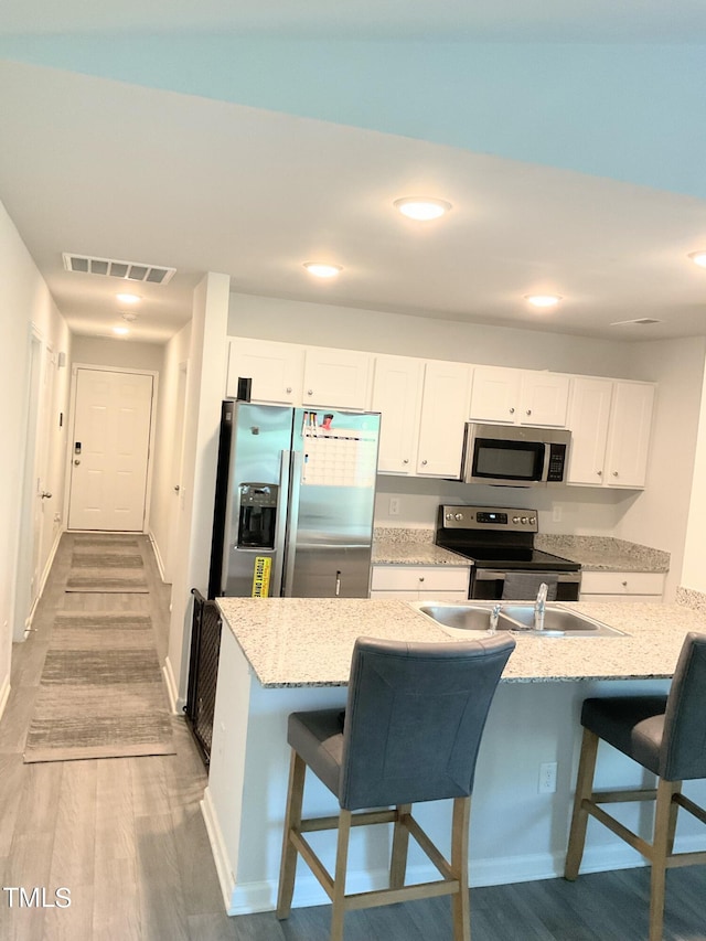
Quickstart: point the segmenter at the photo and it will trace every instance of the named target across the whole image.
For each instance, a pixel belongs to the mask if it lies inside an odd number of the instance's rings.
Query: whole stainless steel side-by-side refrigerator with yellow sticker
[[[379,415],[224,402],[208,597],[366,598]]]

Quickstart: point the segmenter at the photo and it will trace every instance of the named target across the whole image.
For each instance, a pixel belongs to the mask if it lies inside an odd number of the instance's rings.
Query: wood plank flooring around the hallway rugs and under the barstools
[[[228,918],[199,802],[206,774],[181,718],[178,753],[24,764],[22,749],[54,614],[149,613],[163,660],[169,587],[148,554],[148,595],[64,595],[64,535],[30,638],[15,644],[0,723],[0,938],[3,941],[328,941],[328,906]],[[69,600],[67,600],[69,599]],[[302,865],[301,863],[299,865]],[[649,869],[471,890],[473,941],[644,941]],[[34,887],[45,906],[21,906]],[[49,907],[60,887],[71,906]],[[13,891],[9,891],[13,889]],[[10,901],[13,903],[10,905]],[[346,941],[450,941],[448,899],[346,916]],[[706,867],[667,875],[664,941],[706,941]]]

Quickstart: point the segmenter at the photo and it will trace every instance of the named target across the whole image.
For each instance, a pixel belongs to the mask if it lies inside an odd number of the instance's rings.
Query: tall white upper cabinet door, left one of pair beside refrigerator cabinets
[[[421,360],[375,359],[371,408],[382,415],[377,461],[382,473],[416,473],[422,377]]]

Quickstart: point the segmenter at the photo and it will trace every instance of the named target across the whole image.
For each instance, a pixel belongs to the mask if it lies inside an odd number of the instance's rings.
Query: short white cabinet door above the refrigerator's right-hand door
[[[302,404],[366,410],[372,362],[370,353],[310,346],[304,357]]]

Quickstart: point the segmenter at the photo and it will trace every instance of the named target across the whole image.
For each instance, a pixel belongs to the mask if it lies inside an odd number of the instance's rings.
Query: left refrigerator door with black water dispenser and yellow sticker
[[[238,403],[234,413],[223,594],[274,597],[281,591],[292,409]]]

